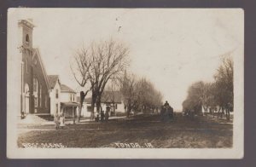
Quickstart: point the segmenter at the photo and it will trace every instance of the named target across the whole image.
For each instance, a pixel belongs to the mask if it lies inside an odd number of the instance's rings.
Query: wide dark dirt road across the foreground
[[[20,126],[19,130],[19,147],[61,143],[65,147],[215,148],[232,147],[233,138],[230,122],[181,115],[166,122],[148,114],[108,123],[68,124],[65,130],[55,130],[51,124]]]

